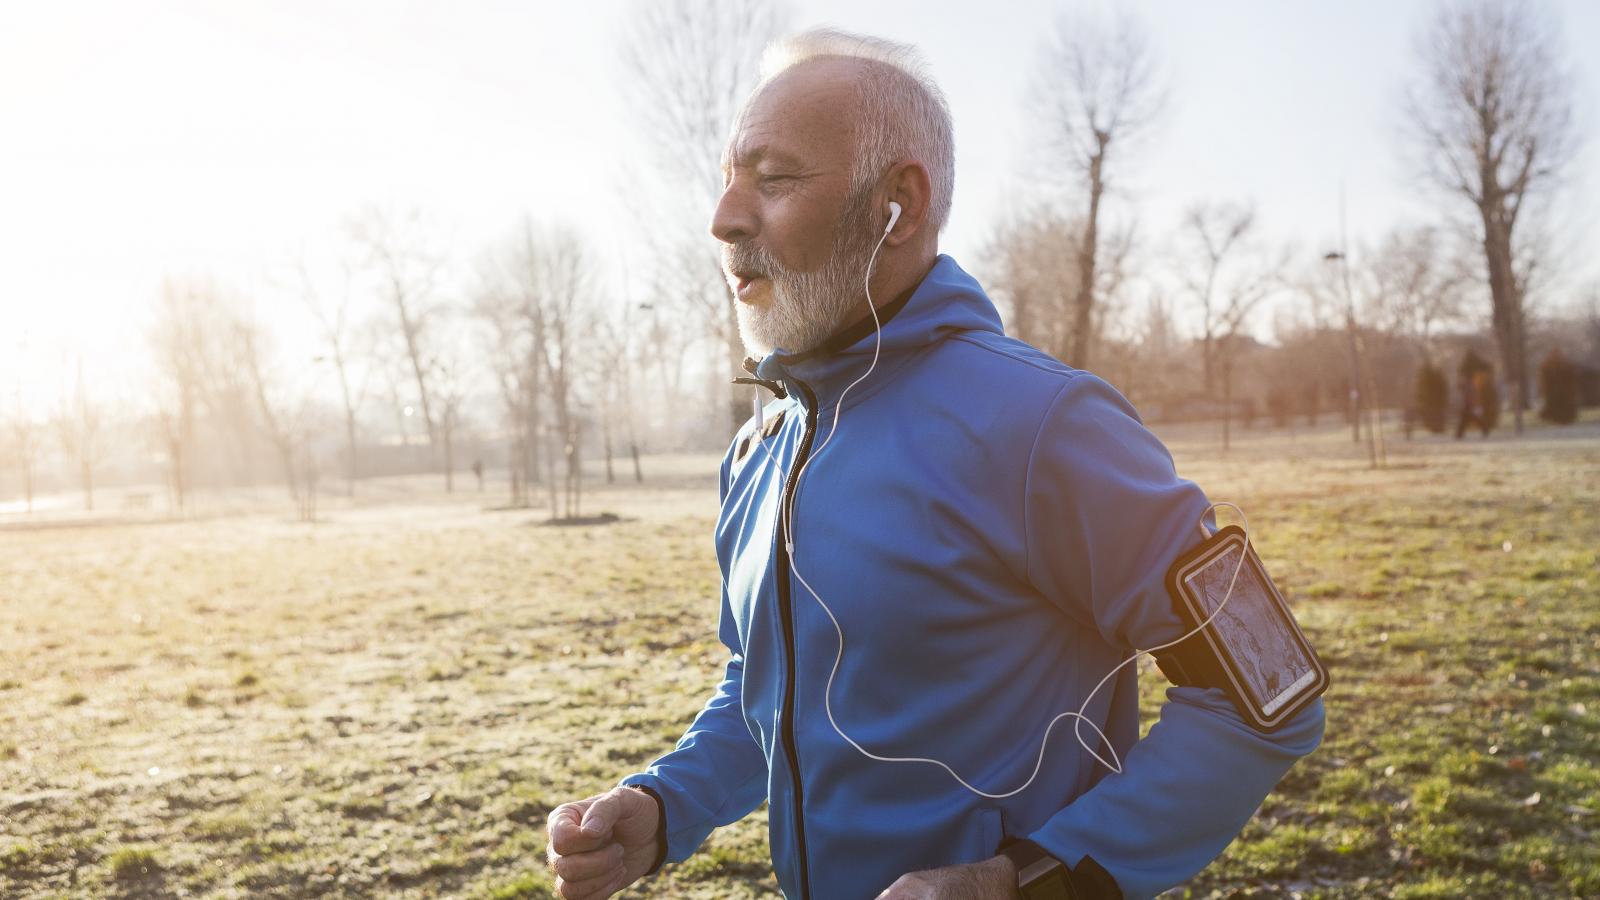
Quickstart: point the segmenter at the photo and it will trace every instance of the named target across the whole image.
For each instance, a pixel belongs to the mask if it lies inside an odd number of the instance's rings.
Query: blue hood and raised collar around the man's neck
[[[882,322],[882,348],[878,368],[896,356],[904,357],[960,331],[1002,333],[1000,311],[955,259],[939,255],[928,274],[909,295],[896,298],[878,309]],[[874,338],[872,315],[864,315],[840,328],[819,348],[790,354],[773,351],[757,367],[755,376],[766,381],[782,381],[794,391],[803,381],[827,407],[851,381],[867,372]]]

